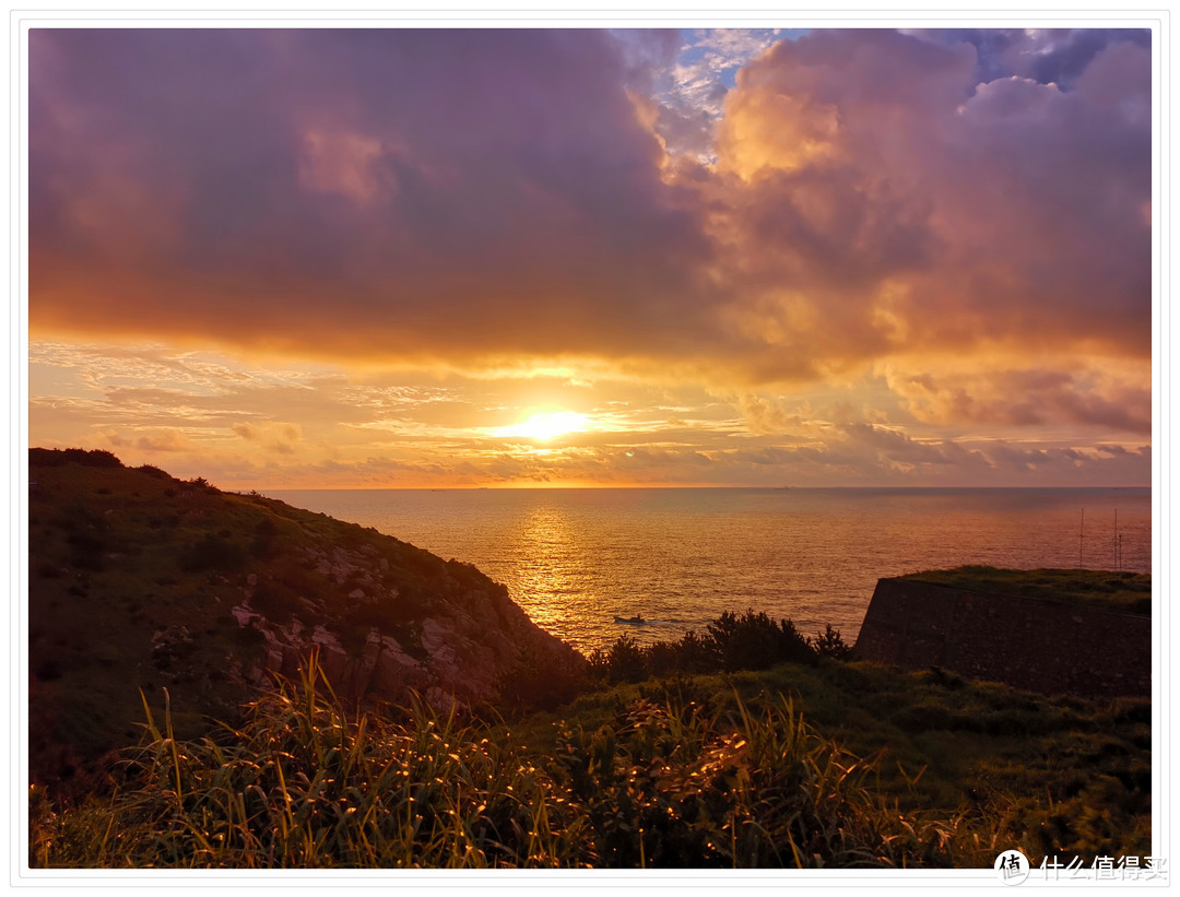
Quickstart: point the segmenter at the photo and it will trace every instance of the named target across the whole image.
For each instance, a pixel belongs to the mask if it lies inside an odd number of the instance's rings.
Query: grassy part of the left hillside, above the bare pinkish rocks
[[[258,495],[127,469],[105,452],[32,450],[30,470],[37,781],[68,783],[137,741],[140,690],[156,713],[166,692],[183,736],[210,718],[234,720],[267,648],[234,616],[247,598],[270,626],[323,627],[353,654],[376,630],[417,660],[424,620],[442,604],[507,602],[468,564]]]

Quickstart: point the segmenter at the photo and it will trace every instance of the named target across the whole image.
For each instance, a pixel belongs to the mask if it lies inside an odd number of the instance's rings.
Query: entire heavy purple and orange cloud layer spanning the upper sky
[[[762,387],[887,369],[926,424],[1145,433],[1142,33],[774,37],[713,32],[694,57],[673,32],[34,30],[31,327],[608,369],[753,397],[762,436],[798,417]],[[669,77],[703,93],[661,105]],[[153,364],[225,428],[271,399],[322,410],[297,377]],[[192,391],[228,378],[242,404]],[[104,382],[126,413],[160,405]],[[340,425],[414,404],[349,391],[328,389]]]

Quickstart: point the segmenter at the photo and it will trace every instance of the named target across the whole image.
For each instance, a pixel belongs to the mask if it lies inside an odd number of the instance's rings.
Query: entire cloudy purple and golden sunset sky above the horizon
[[[31,445],[1150,485],[1150,34],[30,33]]]

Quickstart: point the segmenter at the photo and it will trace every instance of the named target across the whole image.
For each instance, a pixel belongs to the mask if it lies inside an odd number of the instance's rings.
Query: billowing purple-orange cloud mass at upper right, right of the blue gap
[[[974,45],[884,31],[752,63],[721,125],[727,177],[702,188],[732,250],[716,277],[746,288],[722,320],[747,369],[818,379],[997,346],[1146,358],[1148,72],[1116,41],[1074,90],[977,83]]]

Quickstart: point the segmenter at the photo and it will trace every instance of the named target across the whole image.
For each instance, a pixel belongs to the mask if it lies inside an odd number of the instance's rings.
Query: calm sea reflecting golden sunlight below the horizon
[[[282,490],[507,585],[589,652],[726,610],[831,623],[850,644],[883,576],[991,564],[1150,572],[1149,489]],[[618,622],[642,617],[643,623]]]

